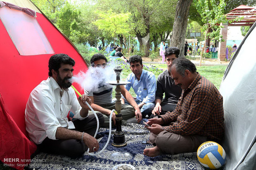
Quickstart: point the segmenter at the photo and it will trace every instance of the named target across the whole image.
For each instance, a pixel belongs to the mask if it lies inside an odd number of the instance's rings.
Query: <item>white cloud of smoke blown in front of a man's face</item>
[[[99,85],[107,84],[106,82],[116,80],[114,67],[90,67],[86,72],[80,71],[77,75],[73,76],[71,81],[80,85],[81,89],[87,91],[95,91]]]

